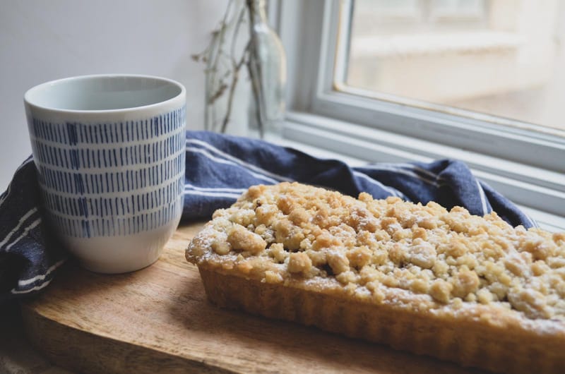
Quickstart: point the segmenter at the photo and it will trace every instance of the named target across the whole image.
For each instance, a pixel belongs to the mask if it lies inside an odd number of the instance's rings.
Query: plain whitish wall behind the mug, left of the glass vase
[[[164,76],[186,86],[187,128],[203,126],[201,52],[226,0],[0,0],[0,193],[31,153],[23,94],[95,73]]]

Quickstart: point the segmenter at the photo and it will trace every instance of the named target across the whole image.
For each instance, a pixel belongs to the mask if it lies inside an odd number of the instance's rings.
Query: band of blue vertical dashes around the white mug
[[[67,236],[124,236],[178,219],[185,108],[119,123],[32,119],[45,207]]]

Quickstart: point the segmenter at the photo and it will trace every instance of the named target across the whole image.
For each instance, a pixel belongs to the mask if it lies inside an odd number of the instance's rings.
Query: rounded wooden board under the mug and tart
[[[69,262],[21,304],[30,342],[83,373],[478,373],[433,358],[211,305],[180,227],[157,263],[99,275]]]

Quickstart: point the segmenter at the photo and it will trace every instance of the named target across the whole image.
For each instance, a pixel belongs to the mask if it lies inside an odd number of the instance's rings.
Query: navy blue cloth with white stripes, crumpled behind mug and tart
[[[513,226],[535,226],[456,160],[349,167],[262,140],[186,133],[183,220],[209,219],[214,210],[230,206],[249,186],[280,181],[324,186],[355,197],[365,191],[374,198],[398,196],[422,204],[433,200],[448,209],[463,206],[473,215],[494,210]],[[0,301],[44,289],[64,263],[66,251],[43,217],[35,164],[29,157],[0,196]]]

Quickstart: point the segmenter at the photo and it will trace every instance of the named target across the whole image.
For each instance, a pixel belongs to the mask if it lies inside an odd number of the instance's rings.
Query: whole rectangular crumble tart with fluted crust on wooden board
[[[280,183],[217,210],[186,259],[210,301],[502,372],[565,372],[565,233]]]

